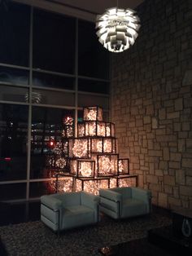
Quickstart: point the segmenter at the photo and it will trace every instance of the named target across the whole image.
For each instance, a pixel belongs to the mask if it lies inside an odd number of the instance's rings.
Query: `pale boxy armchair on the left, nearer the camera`
[[[55,232],[97,223],[98,201],[87,192],[41,196],[41,221]]]

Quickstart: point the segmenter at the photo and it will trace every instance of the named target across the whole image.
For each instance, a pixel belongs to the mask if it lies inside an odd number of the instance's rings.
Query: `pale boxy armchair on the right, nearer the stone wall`
[[[142,188],[99,190],[99,210],[111,218],[128,218],[151,212],[151,192]]]

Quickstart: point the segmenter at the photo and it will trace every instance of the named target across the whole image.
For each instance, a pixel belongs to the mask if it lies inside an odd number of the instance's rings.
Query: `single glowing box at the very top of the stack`
[[[83,109],[85,121],[103,121],[103,109],[99,107],[85,107]]]

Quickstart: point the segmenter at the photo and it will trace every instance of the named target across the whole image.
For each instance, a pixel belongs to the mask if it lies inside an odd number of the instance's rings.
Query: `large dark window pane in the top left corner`
[[[8,2],[0,12],[0,62],[28,66],[30,8]]]

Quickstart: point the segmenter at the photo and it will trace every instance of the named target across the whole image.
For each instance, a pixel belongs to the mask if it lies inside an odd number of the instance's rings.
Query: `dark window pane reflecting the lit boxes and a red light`
[[[71,117],[72,121],[66,126],[65,121],[68,117]],[[71,126],[74,135],[73,110],[33,107],[31,179],[50,178],[53,170],[59,169],[55,161],[59,160],[59,157],[64,157],[63,147],[66,142],[64,131]]]

